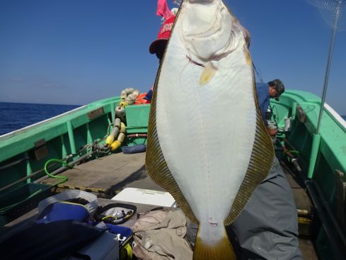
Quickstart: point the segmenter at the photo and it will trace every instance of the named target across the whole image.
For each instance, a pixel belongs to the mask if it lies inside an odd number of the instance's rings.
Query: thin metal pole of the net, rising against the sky
[[[342,4],[342,1],[339,1],[338,2],[338,7],[336,8],[333,32],[332,32],[332,36],[331,36],[331,39],[330,39],[328,63],[327,63],[327,68],[325,69],[325,79],[324,79],[324,84],[323,84],[323,94],[322,94],[322,98],[321,98],[320,113],[318,115],[318,123],[317,123],[317,128],[316,128],[316,135],[318,135],[320,133],[320,126],[321,126],[323,108],[324,108],[324,103],[325,103],[325,94],[327,93],[328,78],[329,78],[329,72],[330,72],[330,64],[332,62],[335,33],[336,33],[336,28],[338,26],[338,20],[339,20],[339,16],[340,16],[340,5],[341,4]]]

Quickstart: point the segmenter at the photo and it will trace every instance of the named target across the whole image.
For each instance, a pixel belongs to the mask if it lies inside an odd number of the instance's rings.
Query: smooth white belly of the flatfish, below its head
[[[204,68],[188,60],[190,50],[178,33],[184,15],[175,22],[161,66],[156,129],[167,166],[200,222],[200,236],[214,244],[253,149],[253,72],[241,45],[215,62],[217,73],[200,86]]]

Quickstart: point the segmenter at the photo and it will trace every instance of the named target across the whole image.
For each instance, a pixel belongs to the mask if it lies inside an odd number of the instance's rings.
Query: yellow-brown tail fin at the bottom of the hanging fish
[[[199,230],[200,231],[200,230]],[[224,235],[216,242],[204,242],[197,232],[193,260],[236,260],[226,229]]]

